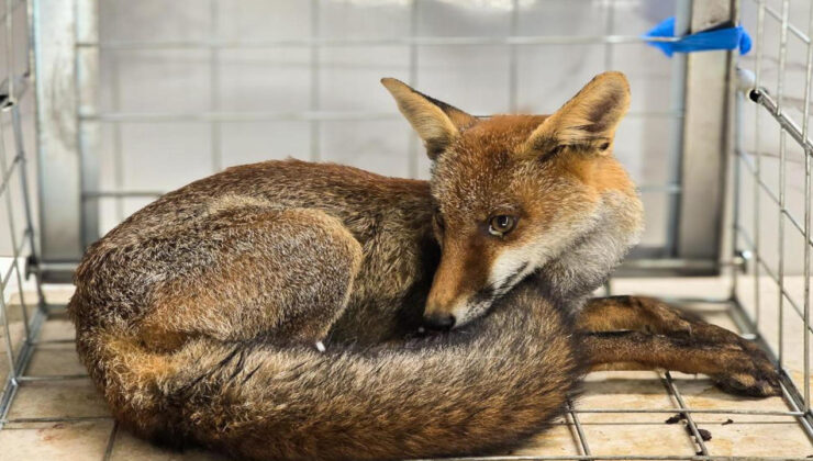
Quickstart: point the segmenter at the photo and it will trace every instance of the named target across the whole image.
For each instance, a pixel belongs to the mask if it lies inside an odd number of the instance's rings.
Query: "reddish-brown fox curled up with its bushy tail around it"
[[[237,166],[88,248],[68,313],[123,427],[250,460],[481,456],[544,430],[592,370],[779,392],[740,336],[655,299],[592,297],[643,227],[612,154],[623,74],[550,115],[474,116],[381,82],[430,180]]]

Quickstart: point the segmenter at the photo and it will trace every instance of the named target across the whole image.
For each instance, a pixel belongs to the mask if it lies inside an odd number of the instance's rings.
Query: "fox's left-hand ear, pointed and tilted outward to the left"
[[[410,122],[426,146],[426,154],[436,159],[477,117],[430,98],[394,78],[382,78],[381,83],[392,93],[403,116]]]

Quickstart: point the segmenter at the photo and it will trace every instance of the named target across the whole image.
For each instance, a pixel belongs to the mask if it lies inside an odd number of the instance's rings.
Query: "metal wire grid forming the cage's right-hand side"
[[[735,201],[739,194],[749,193],[751,196],[753,216],[754,221],[750,223],[753,226],[753,234],[747,229],[747,224],[742,221],[742,214],[738,204],[735,206],[734,220],[733,220],[733,240],[734,251],[737,255],[744,256],[746,260],[750,262],[753,279],[751,284],[754,286],[754,313],[749,313],[744,304],[744,300],[739,297],[738,286],[742,283],[739,280],[740,276],[737,271],[733,271],[732,281],[732,301],[734,303],[735,312],[745,324],[746,331],[753,331],[756,339],[769,350],[782,374],[782,385],[786,392],[786,398],[788,400],[789,406],[794,411],[800,411],[803,416],[800,416],[800,424],[804,427],[809,435],[813,435],[813,417],[811,414],[811,382],[810,382],[810,333],[813,333],[810,322],[810,254],[811,245],[811,156],[813,155],[813,144],[809,138],[809,125],[810,125],[810,103],[811,103],[811,88],[813,88],[813,43],[810,37],[813,35],[813,8],[810,11],[810,18],[808,22],[808,32],[803,33],[798,26],[793,26],[790,22],[790,0],[782,0],[781,12],[777,12],[772,8],[766,4],[765,0],[750,0],[756,3],[758,9],[757,12],[757,36],[756,36],[756,63],[754,72],[740,72],[738,89],[740,91],[739,104],[744,104],[743,101],[750,101],[758,105],[755,116],[754,130],[754,146],[751,151],[747,151],[743,145],[742,136],[735,136],[734,149],[732,151],[734,156],[734,175],[735,175],[735,189],[734,195]],[[778,63],[778,79],[777,79],[777,92],[776,95],[771,95],[766,89],[764,77],[762,77],[762,63],[764,63],[764,42],[765,42],[765,22],[766,19],[777,21],[780,26],[779,37],[779,63]],[[790,34],[789,34],[790,33]],[[805,65],[805,80],[804,80],[804,102],[802,109],[802,122],[801,124],[788,115],[784,109],[784,85],[786,85],[786,68],[787,68],[787,54],[789,40],[792,35],[800,42],[806,45],[806,65]],[[767,114],[764,114],[767,112]],[[749,130],[743,126],[742,111],[736,111],[737,120],[736,126],[739,131]],[[768,115],[772,123],[776,124],[779,131],[779,185],[778,191],[772,189],[764,179],[765,167],[762,166],[762,156],[760,145],[761,128],[765,126],[762,123]],[[786,198],[786,168],[787,168],[787,143],[788,136],[792,142],[797,143],[804,153],[804,217],[803,223],[799,223],[798,220],[792,215],[787,205]],[[749,157],[754,157],[754,159]],[[740,179],[745,178],[746,175],[753,182],[751,191],[740,190]],[[762,198],[767,196],[775,205],[779,207],[779,214],[776,217],[778,226],[778,268],[775,270],[770,267],[769,262],[762,255],[762,241],[760,238],[760,222],[765,218],[761,212],[760,203]],[[786,285],[786,258],[784,258],[784,244],[788,237],[786,233],[787,224],[791,224],[792,229],[798,232],[798,235],[803,238],[804,250],[803,250],[803,296],[804,300],[800,306],[797,301],[792,297],[790,289]],[[775,284],[777,289],[777,304],[778,304],[778,350],[776,353],[772,348],[767,344],[766,339],[759,333],[759,326],[761,321],[760,306],[764,303],[761,295],[761,282],[767,280],[769,283]],[[791,307],[791,315],[798,316],[798,321],[802,325],[803,335],[803,378],[801,382],[794,382],[790,374],[784,370],[784,316],[787,306]],[[801,387],[801,390],[799,389]]]

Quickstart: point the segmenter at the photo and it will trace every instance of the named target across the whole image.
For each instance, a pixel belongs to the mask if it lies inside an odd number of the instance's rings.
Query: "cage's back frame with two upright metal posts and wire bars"
[[[320,75],[321,75],[321,50],[326,47],[346,46],[405,46],[409,48],[409,82],[417,82],[417,63],[422,48],[432,46],[471,46],[471,45],[504,45],[509,52],[509,98],[506,109],[516,108],[517,88],[517,48],[530,45],[568,46],[583,44],[605,44],[605,65],[610,68],[613,64],[613,49],[615,46],[628,44],[641,44],[645,41],[669,42],[675,38],[643,38],[639,35],[622,35],[611,30],[614,5],[609,3],[608,22],[604,35],[570,36],[570,35],[517,35],[520,1],[512,0],[512,13],[510,18],[509,35],[506,36],[420,36],[419,35],[419,11],[421,3],[425,0],[412,0],[410,8],[410,33],[406,36],[392,38],[328,38],[320,34],[320,5],[321,0],[310,0],[311,5],[311,35],[305,38],[296,40],[224,40],[220,35],[218,20],[219,0],[210,0],[211,37],[208,40],[190,41],[101,41],[98,35],[98,0],[75,0],[64,2],[57,0],[41,0],[36,2],[35,20],[40,23],[38,30],[47,30],[48,36],[43,36],[35,44],[40,47],[38,55],[42,60],[42,75],[47,81],[37,88],[40,113],[42,117],[59,114],[71,120],[60,121],[59,124],[44,121],[40,137],[40,157],[49,161],[42,162],[40,177],[44,185],[41,187],[41,199],[43,202],[41,225],[43,228],[43,276],[48,281],[69,281],[73,269],[85,248],[99,235],[99,201],[101,199],[113,199],[118,218],[124,217],[123,201],[127,198],[154,198],[166,191],[160,190],[127,190],[123,187],[122,170],[122,123],[164,123],[164,122],[191,122],[207,124],[210,126],[211,144],[209,162],[212,171],[222,169],[222,153],[220,147],[221,126],[235,122],[253,121],[305,121],[310,125],[310,159],[322,158],[321,126],[325,121],[360,121],[360,120],[394,120],[399,115],[393,112],[375,111],[324,111],[320,102]],[[679,0],[677,16],[679,26],[687,31],[700,30],[719,23],[730,22],[730,15],[719,15],[715,9],[702,7],[703,4],[725,4],[726,1],[715,0],[713,2],[699,2],[701,7],[692,13],[692,0]],[[733,10],[732,10],[733,11]],[[717,14],[717,15],[715,15]],[[71,20],[77,26],[73,32],[66,24]],[[54,33],[53,31],[62,31]],[[310,102],[309,109],[301,112],[230,112],[222,110],[221,94],[219,89],[220,78],[220,53],[224,49],[266,49],[266,48],[305,48],[310,49]],[[53,48],[53,49],[52,49]],[[114,110],[101,112],[96,103],[93,87],[99,82],[98,61],[102,52],[118,50],[160,50],[160,49],[202,49],[208,50],[210,56],[210,106],[204,112],[181,113],[134,113],[119,110],[118,101],[121,92],[118,71],[115,66],[111,76]],[[53,56],[69,56],[74,53],[77,58],[73,65],[69,63],[56,63]],[[675,121],[675,136],[670,150],[670,165],[673,166],[675,175],[667,184],[643,184],[642,193],[667,194],[669,196],[670,221],[664,248],[648,249],[633,254],[626,262],[621,274],[712,274],[719,273],[728,261],[721,261],[719,250],[721,241],[721,221],[717,218],[723,203],[723,182],[715,181],[724,171],[724,157],[720,156],[719,147],[715,150],[720,157],[719,165],[706,167],[702,175],[695,175],[691,170],[697,157],[709,155],[712,147],[699,148],[698,140],[708,139],[714,133],[714,126],[709,120],[703,119],[705,111],[695,110],[700,104],[717,100],[716,104],[723,106],[726,103],[725,83],[721,88],[705,88],[698,86],[686,93],[686,81],[692,82],[697,79],[706,79],[710,75],[717,78],[721,69],[724,70],[726,63],[731,63],[731,56],[725,58],[714,57],[715,66],[706,66],[700,63],[692,66],[693,61],[706,59],[706,57],[675,58],[673,74],[675,83],[672,88],[672,106],[664,111],[633,112],[628,117],[668,117]],[[714,70],[710,70],[714,68]],[[76,89],[76,95],[59,94],[51,98],[47,91],[59,91],[59,89]],[[686,93],[686,97],[684,97]],[[684,101],[686,99],[686,101]],[[59,101],[59,106],[54,106]],[[683,124],[683,112],[687,110],[687,120],[690,124]],[[715,123],[726,120],[724,116],[714,119]],[[111,158],[114,161],[114,185],[111,190],[99,188],[98,165],[100,162],[99,132],[101,124],[113,125],[113,151]],[[57,126],[58,125],[58,126]],[[721,126],[717,126],[721,127]],[[416,177],[419,172],[419,157],[422,155],[419,143],[411,136],[406,153],[409,155],[408,172]],[[682,167],[681,167],[682,165]],[[681,175],[681,170],[690,173]],[[79,172],[81,175],[79,175]],[[78,179],[80,178],[80,179]],[[684,191],[689,195],[682,198]],[[702,201],[698,198],[703,198]],[[712,198],[714,206],[698,206],[698,203],[708,204]]]

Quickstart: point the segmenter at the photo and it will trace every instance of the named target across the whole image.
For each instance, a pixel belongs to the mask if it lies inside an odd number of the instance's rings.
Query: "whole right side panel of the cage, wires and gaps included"
[[[810,2],[748,0],[755,49],[740,61],[734,147],[733,300],[746,330],[775,353],[789,407],[810,435]]]

